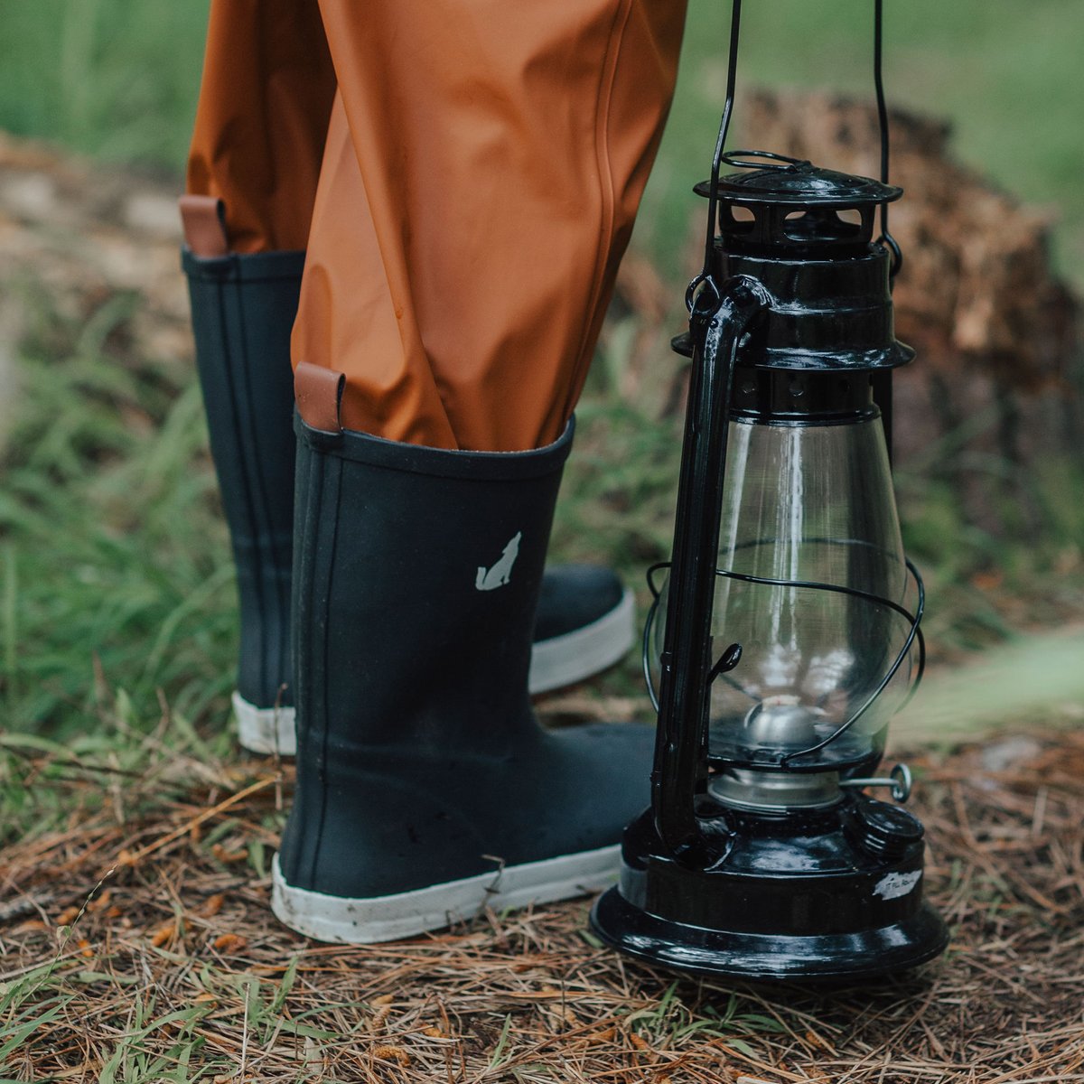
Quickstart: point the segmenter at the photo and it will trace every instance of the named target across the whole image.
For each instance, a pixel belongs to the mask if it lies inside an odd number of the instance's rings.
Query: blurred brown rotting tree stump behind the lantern
[[[869,102],[762,91],[741,117],[743,145],[878,176]],[[1080,310],[1050,267],[1050,219],[955,162],[947,125],[894,112],[890,133],[896,334],[918,350],[894,379],[898,462],[951,480],[989,532],[1042,529],[1040,462],[1084,467]]]

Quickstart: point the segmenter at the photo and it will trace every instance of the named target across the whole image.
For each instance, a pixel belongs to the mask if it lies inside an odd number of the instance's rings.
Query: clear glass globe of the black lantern
[[[876,411],[839,424],[736,417],[730,423],[712,651],[741,658],[711,688],[710,758],[769,764],[847,722],[892,666],[908,622],[868,597],[904,605],[908,576],[885,433]],[[660,611],[666,612],[664,603]],[[661,647],[664,621],[656,629]],[[818,762],[879,754],[912,678],[905,660]]]

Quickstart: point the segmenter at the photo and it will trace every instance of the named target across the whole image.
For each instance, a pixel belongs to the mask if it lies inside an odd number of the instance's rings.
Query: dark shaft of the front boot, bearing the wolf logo
[[[296,425],[299,774],[332,771],[328,747],[500,754],[508,721],[531,718],[534,609],[571,429],[491,453]]]

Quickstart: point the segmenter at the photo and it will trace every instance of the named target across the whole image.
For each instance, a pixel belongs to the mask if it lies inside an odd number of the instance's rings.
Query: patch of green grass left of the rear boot
[[[85,725],[109,688],[202,718],[232,683],[233,570],[192,372],[125,356],[131,298],[42,298],[0,470],[5,722]]]

